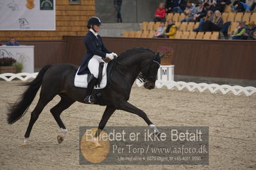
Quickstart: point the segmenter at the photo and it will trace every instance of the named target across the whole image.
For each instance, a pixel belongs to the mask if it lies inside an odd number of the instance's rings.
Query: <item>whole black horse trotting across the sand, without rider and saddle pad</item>
[[[118,58],[108,63],[108,67],[115,63],[108,73],[108,75],[111,75],[108,76],[111,83],[108,83],[104,89],[94,90],[94,95],[100,92],[103,105],[107,105],[99,122],[96,137],[103,130],[116,109],[137,114],[146,121],[149,127],[159,133],[157,127],[149,120],[146,113],[127,101],[130,97],[133,82],[138,76],[144,81],[144,88],[155,88],[161,58],[162,56],[159,56],[159,53],[155,54],[149,49],[135,48],[126,50]],[[24,144],[28,142],[31,129],[39,114],[56,95],[59,95],[61,100],[51,109],[51,114],[53,114],[60,130],[64,134],[58,136],[58,143],[63,141],[67,129],[60,118],[60,114],[76,101],[83,103],[86,93],[85,89],[74,86],[74,76],[77,70],[78,66],[71,64],[46,65],[32,82],[26,84],[28,89],[22,94],[19,102],[16,102],[8,112],[8,123],[12,124],[19,120],[26,113],[38,89],[42,86],[37,106],[31,112],[30,123],[24,136]]]

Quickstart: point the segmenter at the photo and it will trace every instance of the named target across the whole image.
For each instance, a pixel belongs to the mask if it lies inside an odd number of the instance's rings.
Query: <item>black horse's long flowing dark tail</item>
[[[9,108],[9,112],[7,114],[7,121],[9,124],[15,123],[15,121],[21,119],[22,116],[24,116],[28,110],[28,107],[30,107],[30,104],[33,102],[35,95],[37,95],[37,91],[42,84],[44,73],[46,73],[50,67],[51,65],[44,66],[33,81],[24,84],[25,86],[29,87],[22,94],[20,100]]]

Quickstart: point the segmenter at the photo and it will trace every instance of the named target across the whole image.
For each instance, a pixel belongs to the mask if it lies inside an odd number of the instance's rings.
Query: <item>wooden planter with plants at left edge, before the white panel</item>
[[[14,63],[16,63],[14,58],[0,58],[0,73],[16,73]]]

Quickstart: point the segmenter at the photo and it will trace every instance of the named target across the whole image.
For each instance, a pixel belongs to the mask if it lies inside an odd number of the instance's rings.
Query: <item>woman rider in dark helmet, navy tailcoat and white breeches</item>
[[[99,27],[101,26],[101,20],[98,17],[91,17],[88,20],[87,27],[89,31],[85,35],[85,47],[87,54],[83,56],[81,66],[78,71],[78,75],[84,73],[91,73],[88,81],[87,92],[85,97],[85,103],[94,104],[94,98],[92,97],[92,90],[96,85],[96,81],[99,75],[99,63],[104,62],[102,58],[108,58],[110,60],[117,57],[117,54],[110,52],[106,49],[101,36],[98,35]]]

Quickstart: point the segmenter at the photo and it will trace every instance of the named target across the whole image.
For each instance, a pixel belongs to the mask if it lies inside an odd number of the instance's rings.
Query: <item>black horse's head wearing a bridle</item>
[[[149,63],[147,63],[146,66],[143,66],[140,76],[144,81],[144,88],[155,88],[155,81],[157,80],[158,68],[160,67],[161,58],[163,57],[164,54],[162,56],[159,56],[159,52],[157,52],[157,54],[155,54],[153,58],[151,58]]]

